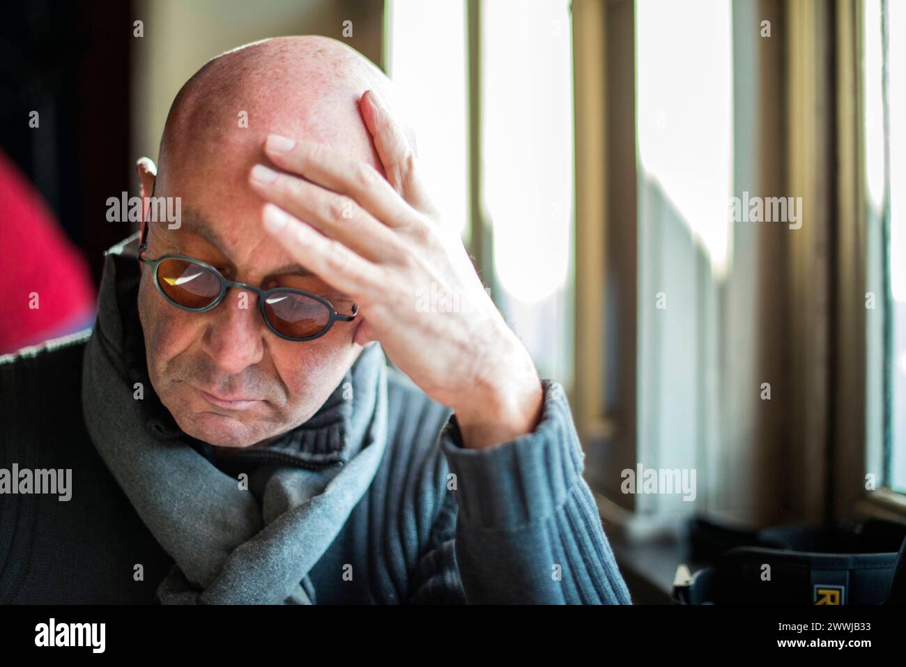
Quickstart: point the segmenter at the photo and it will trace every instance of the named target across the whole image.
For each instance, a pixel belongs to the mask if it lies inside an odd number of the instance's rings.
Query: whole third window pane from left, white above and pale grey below
[[[638,463],[695,469],[697,502],[635,499],[643,513],[719,504],[712,454],[720,380],[720,281],[733,187],[733,34],[721,0],[638,0]]]

